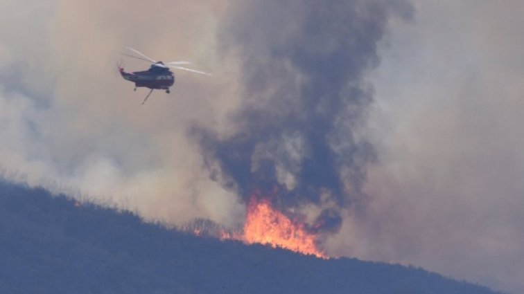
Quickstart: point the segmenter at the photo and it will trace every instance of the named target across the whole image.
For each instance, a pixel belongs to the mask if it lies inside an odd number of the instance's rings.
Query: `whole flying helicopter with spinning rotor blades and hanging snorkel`
[[[200,73],[202,75],[211,75],[210,73],[204,73],[203,71],[197,71],[195,69],[181,66],[185,64],[191,64],[191,62],[157,62],[155,59],[147,57],[145,54],[141,53],[137,49],[133,49],[131,47],[125,48],[131,50],[133,53],[139,56],[130,55],[127,53],[121,53],[122,55],[132,57],[135,59],[141,59],[143,61],[151,63],[151,66],[147,71],[134,71],[132,73],[126,73],[124,71],[124,68],[122,67],[122,64],[118,64],[119,72],[124,78],[124,80],[134,82],[133,91],[137,91],[137,88],[139,87],[151,89],[148,95],[146,95],[146,98],[143,100],[142,104],[146,103],[146,101],[149,98],[149,95],[151,95],[153,90],[166,90],[166,93],[171,93],[171,91],[169,91],[169,87],[175,84],[175,75],[173,74],[173,71],[171,71],[170,68],[182,69],[184,71],[191,71],[192,73]]]

